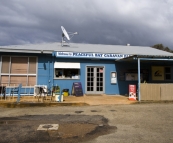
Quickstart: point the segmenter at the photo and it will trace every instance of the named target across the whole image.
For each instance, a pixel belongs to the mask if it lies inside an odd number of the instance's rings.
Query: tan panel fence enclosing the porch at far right
[[[141,100],[173,100],[173,84],[141,84]]]

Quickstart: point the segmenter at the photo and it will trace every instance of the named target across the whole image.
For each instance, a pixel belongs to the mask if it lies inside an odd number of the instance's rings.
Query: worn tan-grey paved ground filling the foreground
[[[93,136],[86,136],[84,133],[84,140],[80,137],[69,138],[63,142],[85,142],[85,143],[172,143],[173,142],[173,104],[172,103],[151,103],[151,104],[126,104],[126,105],[99,105],[99,106],[58,106],[58,107],[25,107],[25,108],[2,108],[0,107],[0,132],[2,139],[7,135],[13,135],[12,124],[8,124],[9,119],[18,120],[18,125],[25,118],[24,129],[28,130],[32,123],[34,126],[25,134],[21,132],[20,136],[25,138],[32,137],[32,133],[36,132],[38,123],[70,123],[76,132],[82,132],[85,129],[86,133],[93,134]],[[40,120],[36,120],[36,116]],[[46,116],[47,115],[47,116]],[[23,116],[23,117],[22,117]],[[61,119],[60,119],[61,116]],[[5,118],[4,118],[5,117]],[[9,117],[9,118],[7,118]],[[15,118],[14,118],[15,117]],[[38,119],[38,118],[37,118]],[[107,120],[106,120],[107,119]],[[7,121],[7,124],[5,124]],[[28,122],[33,121],[33,122]],[[35,122],[34,122],[35,121]],[[64,121],[64,122],[63,122]],[[65,122],[66,121],[66,122]],[[72,121],[72,122],[71,122]],[[107,122],[108,121],[108,122]],[[77,124],[78,123],[78,124]],[[85,123],[85,124],[84,124]],[[95,127],[106,128],[106,133],[103,130],[97,130]],[[85,126],[86,125],[86,126]],[[88,127],[91,125],[91,127]],[[4,128],[6,127],[6,133]],[[71,126],[72,127],[72,126]],[[88,127],[88,129],[87,129]],[[16,128],[16,132],[18,129]],[[99,134],[101,132],[101,134]],[[14,132],[15,133],[15,132]],[[47,133],[48,134],[48,133]],[[65,131],[61,131],[58,135],[65,135]],[[51,138],[57,134],[46,135],[45,132],[39,133],[39,136],[45,135],[45,142],[49,142]],[[3,136],[3,138],[2,138]],[[9,136],[8,136],[9,137]],[[48,137],[48,138],[46,138]],[[88,138],[87,138],[88,137]],[[87,139],[86,139],[87,138]],[[74,140],[73,140],[74,139]],[[75,140],[76,139],[76,140]],[[3,140],[8,142],[8,140]],[[52,140],[53,141],[53,140]],[[58,141],[58,140],[57,140]],[[15,141],[14,141],[15,142]],[[32,142],[43,142],[39,140],[32,140]],[[51,142],[51,141],[50,141]],[[61,142],[59,140],[59,142]]]

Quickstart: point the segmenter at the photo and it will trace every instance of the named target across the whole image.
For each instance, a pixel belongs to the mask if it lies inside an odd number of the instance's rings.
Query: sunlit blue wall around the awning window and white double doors
[[[86,66],[104,66],[105,67],[105,93],[106,94],[119,94],[117,84],[111,84],[110,73],[116,71],[115,62],[110,60],[90,60],[90,59],[54,59],[57,62],[80,62],[80,79],[54,79],[53,84],[59,85],[61,89],[69,89],[72,91],[73,82],[81,82],[83,92],[85,91],[85,70]],[[53,74],[54,75],[54,74]]]

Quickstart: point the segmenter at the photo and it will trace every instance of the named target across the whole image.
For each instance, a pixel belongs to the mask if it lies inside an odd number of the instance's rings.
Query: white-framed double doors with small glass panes
[[[86,93],[104,93],[104,67],[88,66],[86,68]]]

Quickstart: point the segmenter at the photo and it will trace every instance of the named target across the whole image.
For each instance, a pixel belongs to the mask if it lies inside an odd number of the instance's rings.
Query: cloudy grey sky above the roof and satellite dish
[[[173,50],[173,0],[0,0],[0,46],[61,42]]]

